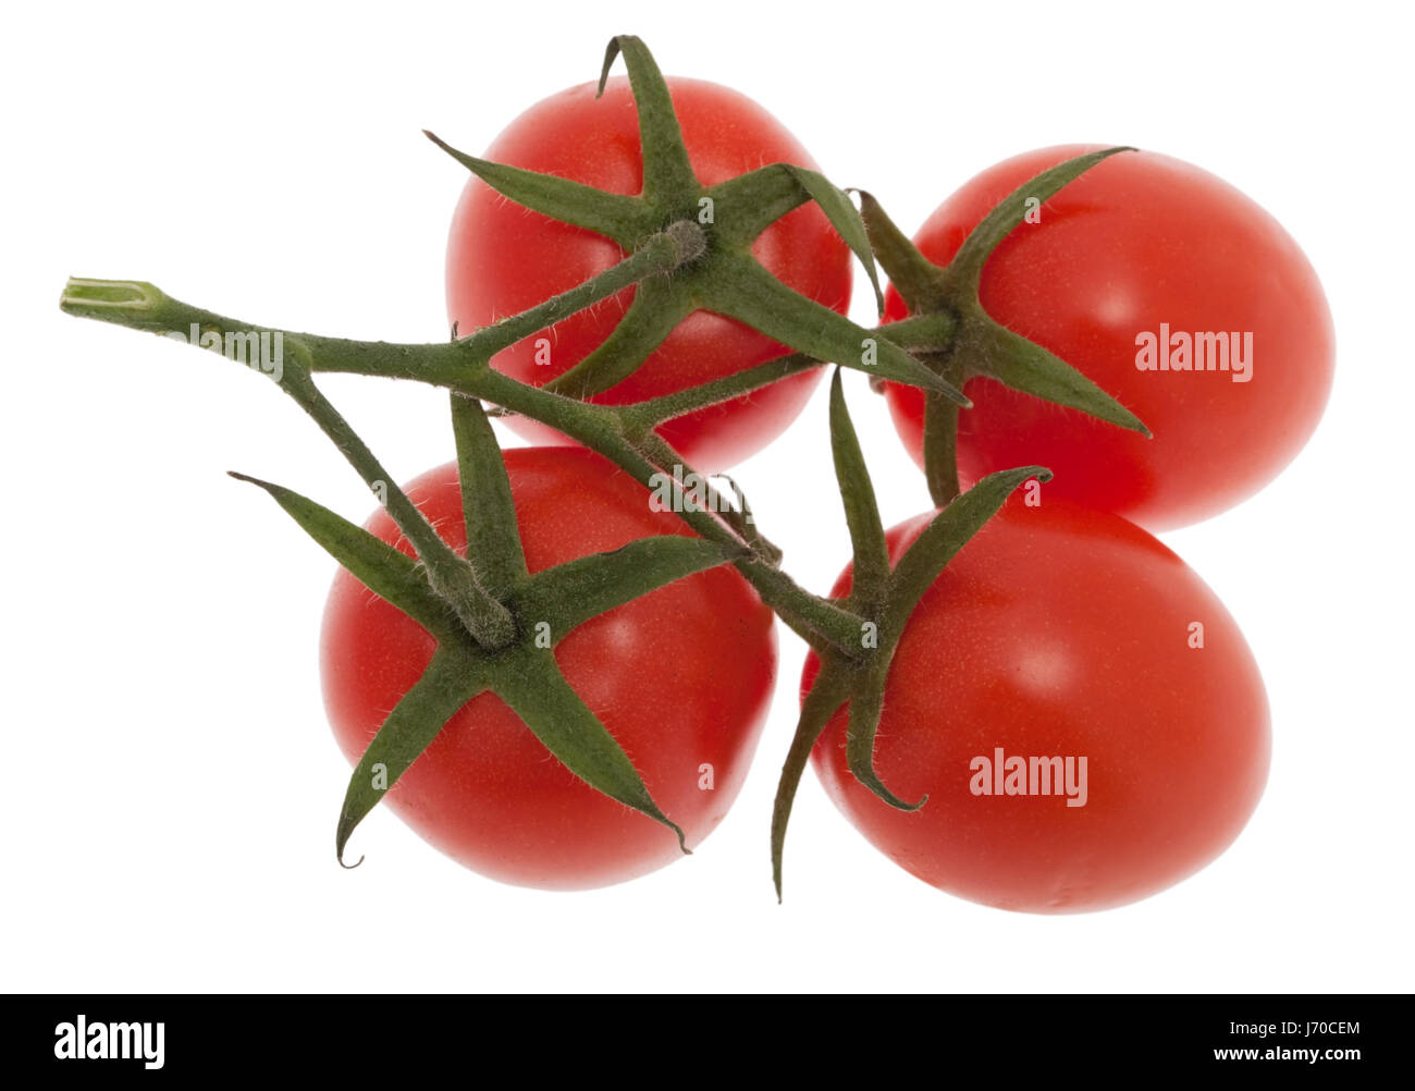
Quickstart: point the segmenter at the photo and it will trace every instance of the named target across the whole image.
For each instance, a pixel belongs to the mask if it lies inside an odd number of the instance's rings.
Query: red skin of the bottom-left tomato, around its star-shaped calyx
[[[590,451],[519,449],[505,461],[531,572],[649,535],[688,533]],[[416,478],[408,494],[451,546],[466,548],[456,464]],[[383,511],[365,525],[412,553]],[[351,763],[433,648],[417,623],[340,572],[324,614],[321,674]],[[717,567],[587,621],[555,657],[659,808],[698,845],[727,812],[757,746],[775,676],[771,611],[734,569]],[[383,802],[460,863],[522,886],[606,886],[682,856],[671,831],[577,780],[492,693],[470,700]]]

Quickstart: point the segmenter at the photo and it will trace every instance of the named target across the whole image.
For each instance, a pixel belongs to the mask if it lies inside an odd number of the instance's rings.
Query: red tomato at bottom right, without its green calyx
[[[894,560],[928,518],[889,532]],[[846,570],[835,593],[849,584]],[[812,657],[805,686],[818,669]],[[921,809],[850,775],[846,720],[811,757],[850,822],[925,883],[1030,913],[1121,906],[1184,879],[1238,835],[1268,774],[1266,695],[1223,603],[1145,531],[1050,494],[1009,501],[899,644],[874,764],[896,795],[927,794]],[[996,771],[1015,757],[1027,778],[1009,785]],[[1054,757],[1044,794],[1032,758]]]

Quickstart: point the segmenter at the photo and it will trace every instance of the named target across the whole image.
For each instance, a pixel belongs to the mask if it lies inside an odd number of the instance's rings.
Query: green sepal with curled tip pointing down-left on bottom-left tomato
[[[374,741],[354,767],[344,794],[344,807],[334,835],[334,849],[340,863],[344,863],[344,846],[358,824],[432,744],[447,720],[485,691],[485,681],[475,668],[474,658],[449,651],[446,647],[439,648],[433,652],[423,676],[383,720],[383,726],[378,729]]]

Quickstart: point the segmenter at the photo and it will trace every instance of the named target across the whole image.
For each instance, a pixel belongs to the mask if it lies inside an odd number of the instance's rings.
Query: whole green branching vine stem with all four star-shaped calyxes
[[[993,474],[958,495],[954,440],[964,383],[978,374],[1090,412],[1125,427],[1143,426],[1084,376],[1044,350],[993,323],[978,304],[986,256],[1022,221],[1013,194],[969,236],[958,258],[940,269],[893,225],[866,192],[860,208],[815,171],[771,164],[705,187],[692,171],[668,85],[644,44],[614,38],[600,88],[624,58],[638,106],[644,184],[638,195],[611,194],[552,175],[466,156],[430,139],[485,184],[525,208],[604,235],[625,256],[611,269],[521,314],[451,342],[351,341],[243,323],[168,297],[144,282],[68,283],[61,307],[74,316],[174,337],[221,355],[249,338],[277,338],[279,366],[259,368],[323,429],[381,498],[416,556],[290,490],[235,474],[263,488],[335,560],[369,590],[419,623],[437,641],[422,679],[378,730],[354,770],[337,825],[342,862],[347,842],[439,732],[475,696],[497,693],[574,775],[596,790],[682,831],[649,797],[630,758],[583,703],[555,661],[555,645],[606,610],[717,565],[733,565],[777,616],[811,644],[821,674],[802,708],[782,770],[773,816],[773,870],[781,889],[781,850],[795,788],[825,725],[849,708],[848,757],[855,775],[893,807],[923,800],[896,797],[874,770],[884,686],[894,650],[914,606],[1007,494],[1041,467]],[[1119,150],[1119,149],[1116,149]],[[1046,200],[1094,161],[1073,160],[1040,175],[1024,195]],[[860,258],[882,293],[879,260],[910,306],[911,317],[869,330],[809,300],[767,272],[751,245],[773,222],[814,201]],[[624,289],[634,300],[608,338],[545,388],[491,368],[494,355]],[[695,310],[736,318],[791,352],[746,371],[661,398],[600,405],[593,396],[631,375],[668,333]],[[519,413],[567,434],[608,458],[640,484],[705,481],[658,433],[685,413],[750,393],[819,366],[839,365],[831,389],[835,475],[855,559],[855,583],[843,600],[799,587],[781,567],[781,550],[758,529],[743,497],[706,502],[682,494],[674,511],[695,536],[665,535],[531,575],[516,531],[505,463],[483,403]],[[252,365],[255,366],[255,365]],[[942,508],[890,565],[873,485],[850,423],[839,368],[872,381],[903,382],[925,395],[928,484]],[[396,487],[375,454],[320,391],[321,374],[410,379],[449,391],[461,483],[467,548],[449,546]],[[736,490],[736,484],[732,485]],[[686,850],[686,846],[683,846]]]

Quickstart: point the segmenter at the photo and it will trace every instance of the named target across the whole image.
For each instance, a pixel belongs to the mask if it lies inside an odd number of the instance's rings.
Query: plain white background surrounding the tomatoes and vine
[[[68,3],[4,20],[0,988],[1412,986],[1407,6]],[[1266,797],[1207,870],[1105,914],[981,908],[886,860],[808,774],[777,906],[790,634],[758,761],[692,859],[548,894],[379,812],[355,838],[366,863],[335,865],[348,767],[316,671],[333,563],[224,471],[359,519],[366,492],[267,382],[67,318],[59,290],[134,277],[275,325],[441,340],[464,175],[419,130],[477,151],[593,78],[620,31],[760,100],[908,229],[999,158],[1094,140],[1213,170],[1306,249],[1337,327],[1326,420],[1259,497],[1166,536],[1244,627],[1274,709]],[[327,389],[399,475],[451,456],[441,395]],[[799,475],[826,454],[824,392],[739,473],[822,590],[848,552],[824,480]],[[914,514],[923,483],[883,403],[852,393],[886,521]]]

